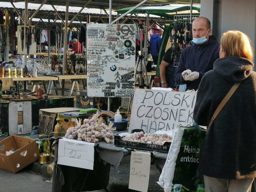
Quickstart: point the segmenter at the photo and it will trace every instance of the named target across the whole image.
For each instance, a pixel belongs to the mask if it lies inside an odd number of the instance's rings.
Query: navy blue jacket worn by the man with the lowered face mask
[[[215,35],[203,44],[192,44],[182,50],[174,79],[177,84],[187,84],[186,90],[197,90],[203,75],[213,69],[213,63],[219,58],[219,43]],[[187,69],[199,72],[199,78],[194,81],[185,81],[181,73]]]

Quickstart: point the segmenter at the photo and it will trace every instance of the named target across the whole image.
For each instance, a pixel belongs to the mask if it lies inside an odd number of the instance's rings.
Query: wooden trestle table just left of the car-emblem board
[[[87,78],[87,75],[55,75],[55,74],[50,74],[49,76],[52,76],[52,77],[57,77],[58,80],[66,80],[66,79],[70,79],[72,82],[71,82],[71,86],[69,89],[65,88],[65,87],[57,87],[56,85],[56,82],[55,81],[50,81],[49,82],[49,86],[48,86],[48,89],[47,89],[47,94],[50,94],[50,91],[51,90],[55,90],[56,91],[56,94],[58,94],[58,91],[67,91],[69,92],[69,97],[72,95],[72,92],[73,92],[73,89],[74,89],[74,86],[76,84],[77,86],[77,90],[79,90],[79,86],[78,86],[78,81],[82,80],[83,82],[83,87],[84,89],[86,89],[86,83],[85,83],[85,79]],[[54,86],[54,87],[52,87]]]

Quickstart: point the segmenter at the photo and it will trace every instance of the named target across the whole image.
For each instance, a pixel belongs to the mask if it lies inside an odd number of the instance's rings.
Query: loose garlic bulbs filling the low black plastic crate
[[[122,139],[126,141],[135,141],[156,145],[163,145],[165,142],[172,142],[172,136],[168,136],[168,134],[166,133],[163,133],[162,135],[157,135],[155,133],[143,133],[142,131],[130,133]]]

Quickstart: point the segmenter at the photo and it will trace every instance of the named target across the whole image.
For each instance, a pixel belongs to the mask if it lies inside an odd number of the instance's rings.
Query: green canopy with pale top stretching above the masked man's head
[[[124,14],[133,7],[123,8],[116,10],[119,14]],[[189,15],[190,14],[190,5],[189,4],[154,4],[154,5],[141,5],[130,14],[152,14],[161,17],[166,17],[172,19],[174,15]],[[192,5],[192,14],[200,14],[200,5]]]

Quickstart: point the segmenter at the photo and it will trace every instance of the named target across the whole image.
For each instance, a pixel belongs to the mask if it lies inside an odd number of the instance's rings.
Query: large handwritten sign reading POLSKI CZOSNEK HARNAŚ
[[[136,89],[133,98],[129,132],[145,133],[192,126],[196,93]]]

